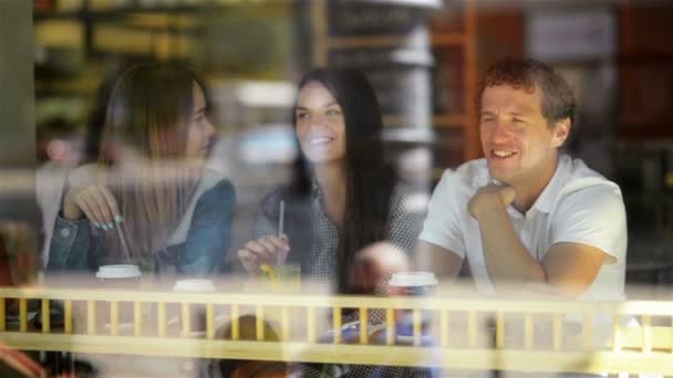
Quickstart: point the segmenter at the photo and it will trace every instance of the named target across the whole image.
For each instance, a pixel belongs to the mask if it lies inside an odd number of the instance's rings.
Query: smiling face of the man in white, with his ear
[[[566,141],[569,119],[552,128],[542,116],[541,91],[510,85],[486,87],[482,94],[479,132],[490,175],[514,186],[537,187],[556,169],[558,147]],[[546,185],[545,182],[541,182]]]

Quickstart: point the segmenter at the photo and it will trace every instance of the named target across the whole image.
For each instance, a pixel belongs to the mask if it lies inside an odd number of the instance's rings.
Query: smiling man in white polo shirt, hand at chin
[[[477,288],[541,286],[580,298],[623,297],[627,219],[619,187],[560,150],[574,99],[534,60],[491,66],[479,90],[485,158],[447,169],[416,256],[455,277],[467,260]]]

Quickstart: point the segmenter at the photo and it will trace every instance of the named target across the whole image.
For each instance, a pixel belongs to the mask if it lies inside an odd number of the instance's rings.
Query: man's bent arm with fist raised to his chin
[[[507,214],[512,199],[511,188],[490,186],[480,189],[469,203],[470,214],[479,222],[484,259],[496,288],[541,283],[563,296],[583,293],[607,254],[587,244],[565,242],[553,244],[538,263],[521,243]]]

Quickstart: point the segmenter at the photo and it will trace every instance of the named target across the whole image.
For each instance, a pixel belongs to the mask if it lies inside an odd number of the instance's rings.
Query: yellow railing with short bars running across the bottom
[[[39,302],[39,306],[32,302]],[[56,302],[63,308],[63,325],[58,328],[50,324],[48,315]],[[18,324],[8,322],[9,304],[18,307]],[[39,328],[29,323],[29,307],[41,309]],[[324,338],[327,329],[341,328],[343,308],[360,309],[363,326],[359,338],[344,340],[340,333]],[[408,311],[413,318],[413,334],[404,343],[395,335],[397,311]],[[367,322],[374,312],[382,315],[383,322],[377,337]],[[196,326],[203,332],[194,333],[194,317],[200,314],[203,323]],[[239,323],[244,314],[255,315],[255,329]],[[122,322],[121,316],[131,321]],[[172,316],[178,321],[172,322]],[[627,316],[638,319],[638,324],[624,325]],[[423,324],[424,318],[431,319],[429,325]],[[222,323],[230,329],[227,338],[217,329]],[[278,338],[266,334],[267,323],[277,325]],[[432,335],[429,342],[427,335]],[[671,374],[673,302],[0,287],[0,339],[18,349],[75,353],[433,365],[447,369]]]

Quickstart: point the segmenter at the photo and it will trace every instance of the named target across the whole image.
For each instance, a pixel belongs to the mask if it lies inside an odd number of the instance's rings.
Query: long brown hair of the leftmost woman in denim
[[[121,76],[107,107],[99,162],[124,218],[132,259],[144,269],[166,246],[197,182],[198,172],[184,159],[194,83],[203,88],[184,67],[136,65]],[[122,167],[120,145],[131,147],[141,161]],[[110,259],[118,262],[117,233],[107,232],[105,239]]]

